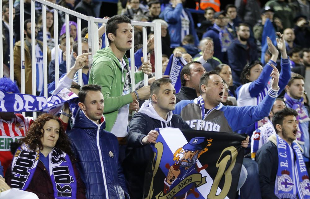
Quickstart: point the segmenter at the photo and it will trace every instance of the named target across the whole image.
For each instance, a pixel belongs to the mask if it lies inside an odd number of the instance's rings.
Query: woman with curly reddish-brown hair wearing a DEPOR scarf
[[[40,115],[27,136],[19,140],[5,179],[11,188],[39,198],[86,198],[85,186],[75,167],[70,141],[60,120]]]

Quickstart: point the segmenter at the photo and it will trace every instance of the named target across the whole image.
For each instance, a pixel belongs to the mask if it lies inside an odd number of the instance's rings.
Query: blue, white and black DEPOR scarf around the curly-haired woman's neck
[[[12,162],[11,188],[28,188],[38,166],[39,153],[38,149],[32,151],[25,144],[18,147]],[[77,180],[69,155],[54,147],[48,159],[54,197],[76,198]]]

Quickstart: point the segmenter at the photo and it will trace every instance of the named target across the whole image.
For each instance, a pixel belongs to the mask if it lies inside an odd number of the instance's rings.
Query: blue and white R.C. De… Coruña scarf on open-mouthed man
[[[310,198],[310,181],[303,155],[299,146],[290,146],[280,136],[277,137],[278,171],[275,181],[275,195],[279,198]],[[294,161],[294,156],[296,161]]]

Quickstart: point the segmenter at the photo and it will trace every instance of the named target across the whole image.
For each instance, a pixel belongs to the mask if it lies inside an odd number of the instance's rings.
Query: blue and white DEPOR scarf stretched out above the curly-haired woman
[[[69,89],[62,89],[46,99],[45,97],[20,93],[6,93],[0,90],[1,112],[32,112],[44,111],[57,114],[65,102],[76,100],[78,96]]]

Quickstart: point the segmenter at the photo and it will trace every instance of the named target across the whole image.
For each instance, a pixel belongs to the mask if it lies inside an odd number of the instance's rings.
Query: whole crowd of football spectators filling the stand
[[[95,0],[49,1],[87,16],[103,14]],[[72,197],[144,198],[150,143],[156,143],[158,136],[154,129],[173,127],[248,134],[241,142],[245,148],[241,171],[246,175],[241,172],[237,197],[310,197],[309,0],[235,0],[234,4],[201,0],[196,1],[195,9],[187,7],[189,0],[122,0],[118,11],[121,15],[104,17],[108,23],[98,27],[97,52],[89,52],[87,21],[82,20],[82,30],[78,30],[77,19],[69,16],[68,44],[65,13],[58,12],[55,24],[54,9],[47,6],[47,34],[43,35],[42,5],[36,2],[36,22],[32,22],[30,3],[24,0],[22,65],[20,1],[13,2],[13,32],[9,31],[8,1],[2,1],[3,75],[10,77],[13,67],[15,82],[1,78],[0,89],[19,93],[23,84],[20,69],[24,67],[25,93],[33,94],[35,55],[36,94],[43,95],[42,41],[46,37],[48,95],[67,88],[78,95],[78,102],[66,103],[58,116],[42,114],[35,120],[19,113],[0,112],[1,136],[20,139],[11,145],[13,155],[9,148],[0,147],[1,192],[19,188],[39,198],[56,198],[59,189],[51,178],[53,162],[49,157],[58,150],[68,162],[72,180],[66,183]],[[224,3],[224,7],[219,5]],[[155,80],[154,30],[147,28],[148,60],[144,60],[142,26],[132,28],[131,21],[161,24],[162,73],[170,58],[187,63],[180,71],[179,92],[169,78]],[[32,23],[36,23],[35,52],[31,51]],[[59,30],[59,46],[55,46],[55,26]],[[82,34],[80,55],[78,31]],[[9,51],[10,34],[13,55]],[[70,45],[70,52],[66,45]],[[134,66],[128,53],[132,47]],[[14,57],[14,65],[10,65],[10,56]],[[59,77],[55,76],[55,63],[59,64]],[[78,85],[79,69],[82,88]],[[136,90],[131,88],[131,70],[135,70]],[[145,74],[150,86],[143,86]],[[60,80],[57,87],[55,78]],[[144,102],[147,99],[150,100]],[[73,112],[73,107],[78,111]],[[135,114],[131,117],[132,113]],[[283,143],[286,149],[280,147]],[[23,186],[19,183],[20,173],[14,169],[23,153],[15,154],[15,149],[38,156]],[[292,157],[281,156],[282,153]],[[290,166],[283,172],[283,162],[287,161]],[[280,175],[287,175],[285,179],[291,184],[285,186],[291,186],[293,191],[286,193],[287,187],[281,187],[284,177]],[[167,190],[169,184],[165,181]]]

